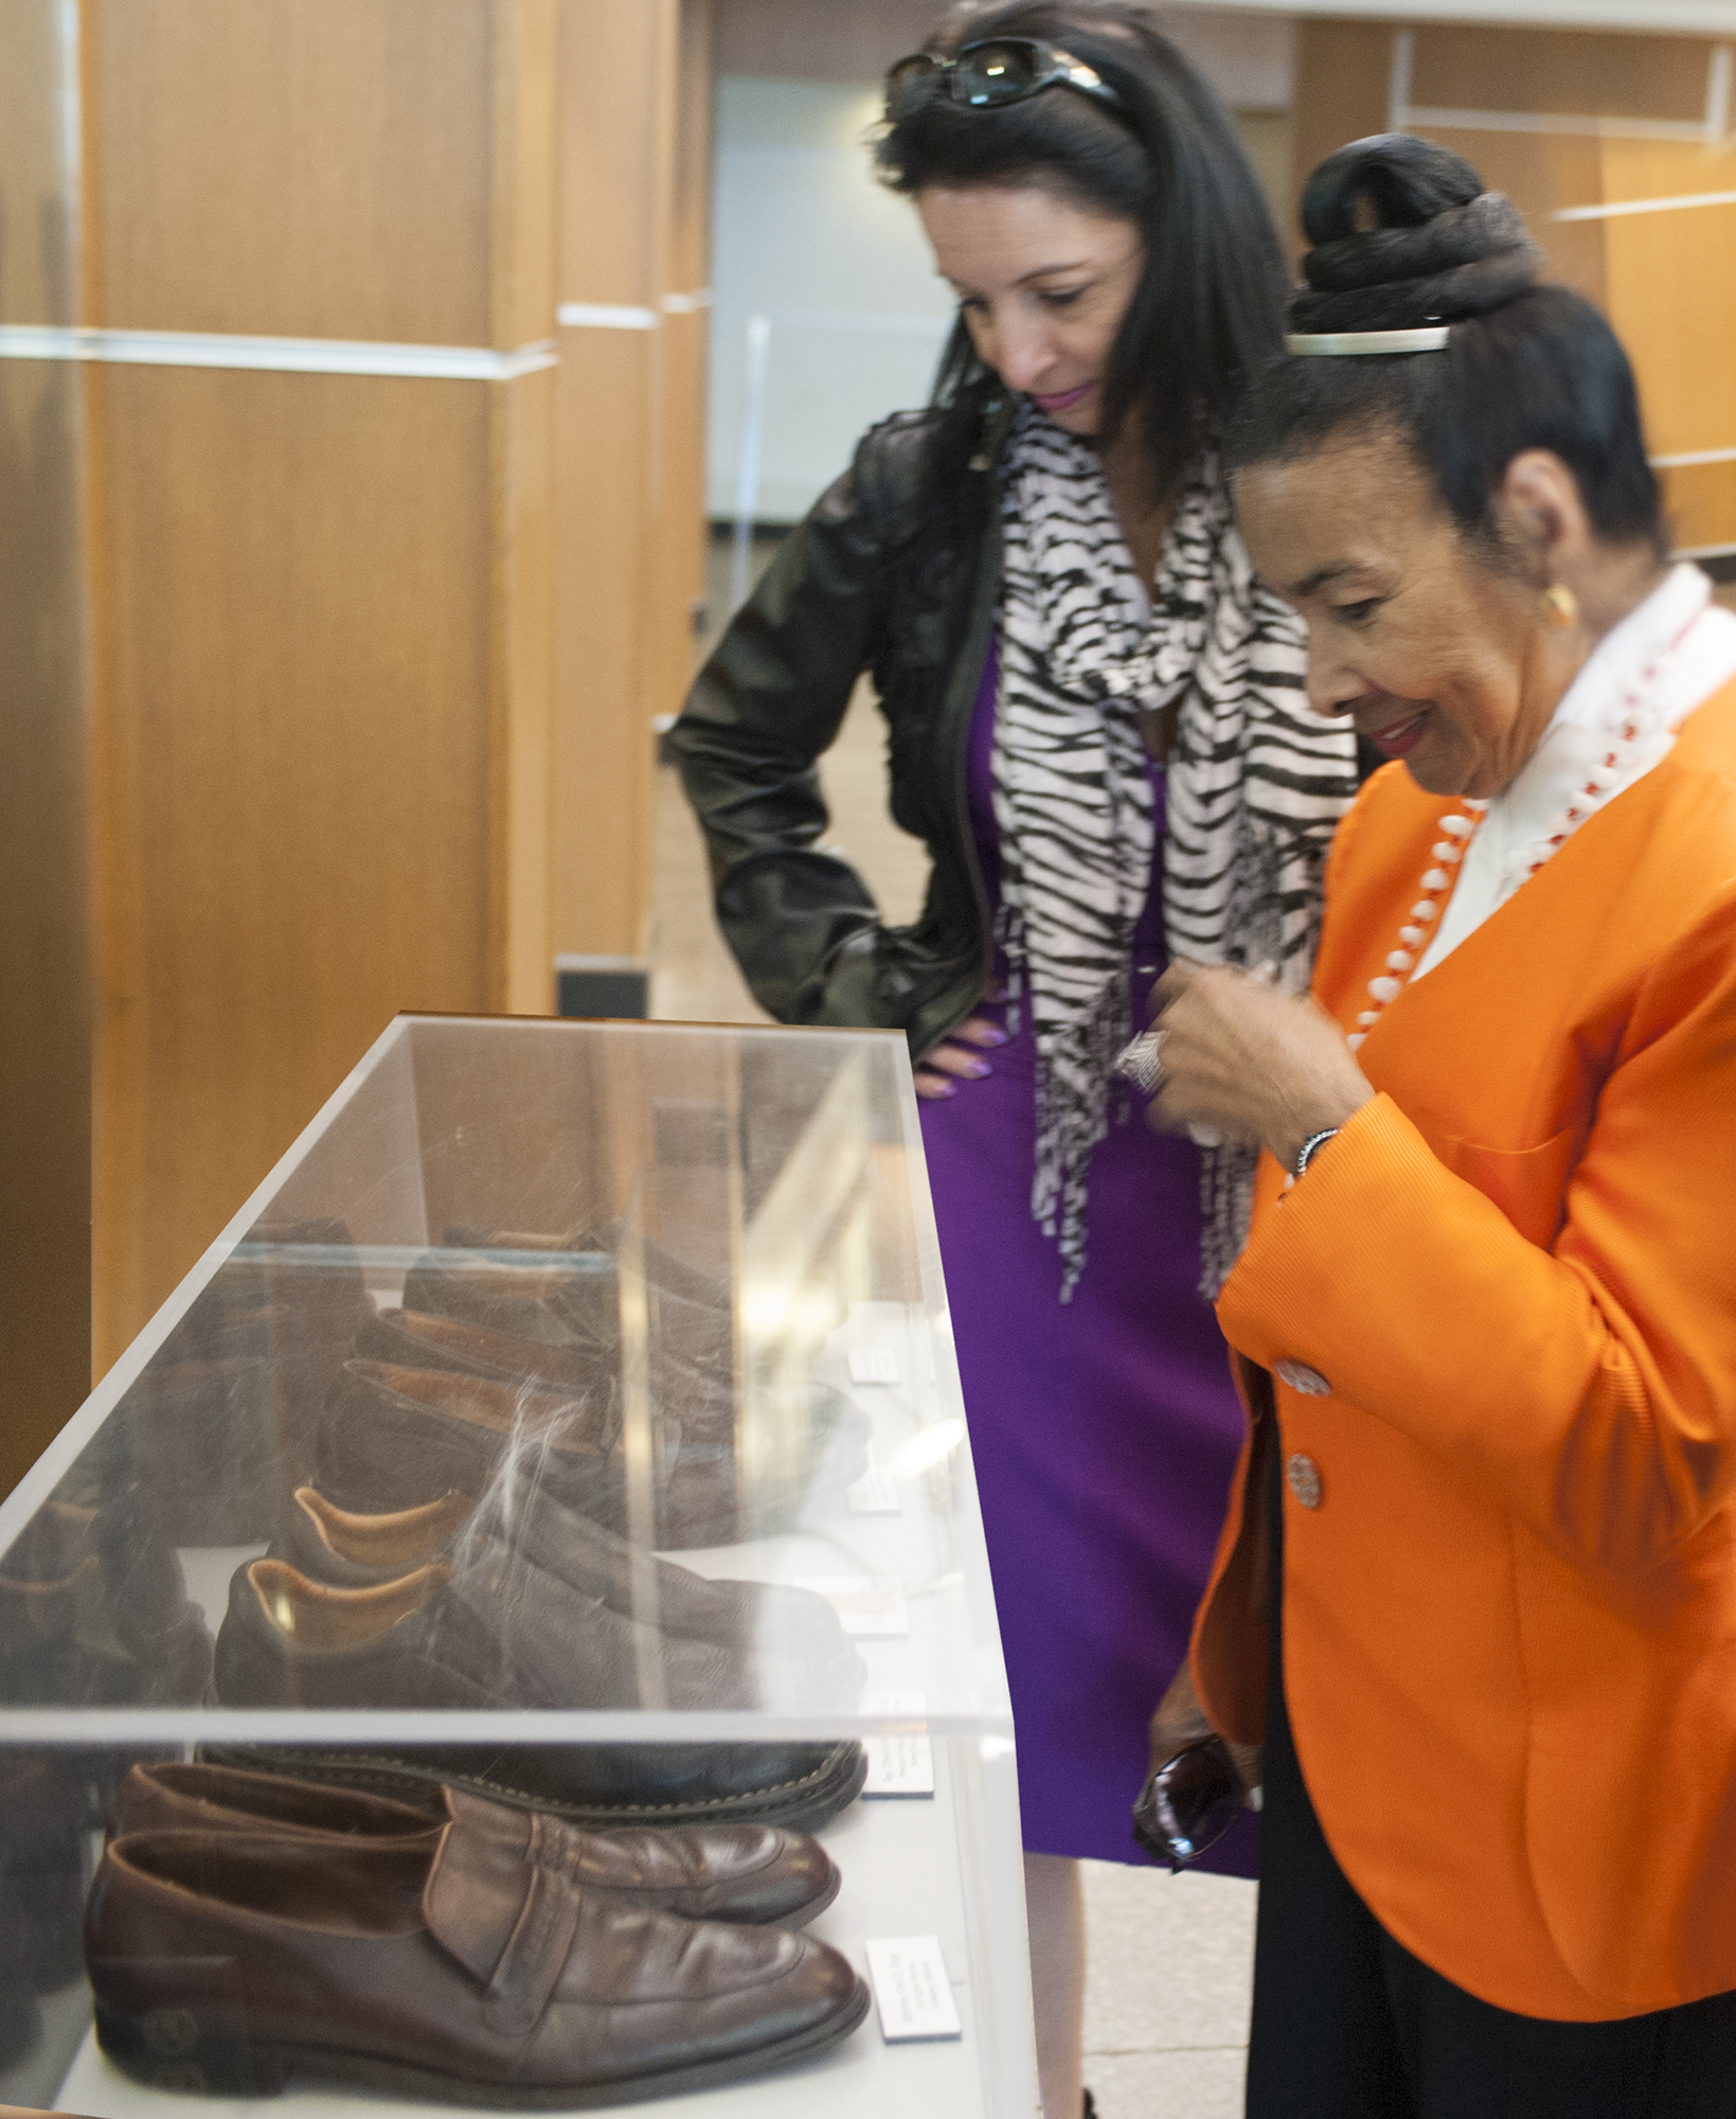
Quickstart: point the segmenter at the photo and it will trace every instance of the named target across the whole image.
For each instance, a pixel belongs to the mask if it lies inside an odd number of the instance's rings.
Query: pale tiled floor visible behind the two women
[[[883,725],[857,693],[821,763],[832,845],[889,920],[921,903],[927,858],[885,812]],[[764,1021],[711,920],[699,831],[658,773],[652,1015]],[[1253,1886],[1086,1863],[1086,2081],[1103,2119],[1236,2119],[1253,1952]]]

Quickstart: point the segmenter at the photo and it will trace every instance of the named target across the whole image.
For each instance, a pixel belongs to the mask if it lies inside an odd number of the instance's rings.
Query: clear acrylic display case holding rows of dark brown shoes
[[[436,1820],[451,1784],[580,1829],[813,1827],[843,1884],[807,1933],[874,2007],[661,2108],[1035,2113],[902,1036],[398,1019],[0,1507],[0,2102],[440,2106],[201,2072],[191,2030],[180,2066],[174,2011],[155,2062],[100,2049],[104,1824],[133,1763],[186,1759]]]

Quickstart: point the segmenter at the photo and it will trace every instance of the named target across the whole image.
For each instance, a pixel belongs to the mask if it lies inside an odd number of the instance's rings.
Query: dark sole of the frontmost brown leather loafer
[[[688,2068],[629,2077],[618,2083],[525,2083],[476,2081],[417,2068],[381,2053],[356,2053],[334,2045],[303,2041],[260,2041],[233,2011],[201,2019],[197,2009],[155,2009],[150,2015],[119,2015],[97,2002],[97,2045],[133,2081],[180,2096],[260,2098],[279,2096],[296,2072],[341,2081],[364,2089],[409,2091],[440,2104],[485,2104],[517,2111],[599,2111],[610,2104],[644,2104],[650,2098],[688,2089],[722,2089],[752,2081],[775,2068],[813,2060],[845,2041],[868,2015],[868,1986],[857,1979],[849,2002],[824,2024],[724,2060],[703,2060]],[[222,2022],[229,2017],[229,2022]]]

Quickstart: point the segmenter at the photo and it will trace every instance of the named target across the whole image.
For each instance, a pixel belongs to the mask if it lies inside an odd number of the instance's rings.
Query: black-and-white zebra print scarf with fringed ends
[[[1270,966],[1291,994],[1313,968],[1325,850],[1355,795],[1355,737],[1349,723],[1308,712],[1302,623],[1255,581],[1215,453],[1183,485],[1150,606],[1090,441],[1023,405],[1001,470],[997,939],[1037,1045],[1031,1214],[1059,1237],[1069,1301],[1152,882],[1139,710],[1179,699],[1164,803],[1171,958]],[[1207,1295],[1247,1237],[1253,1163],[1247,1148],[1202,1153]]]

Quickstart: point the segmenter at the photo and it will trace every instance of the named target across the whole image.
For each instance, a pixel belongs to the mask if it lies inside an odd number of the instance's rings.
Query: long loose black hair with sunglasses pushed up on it
[[[944,55],[999,36],[1042,38],[1095,68],[1120,112],[1067,87],[976,110],[929,78],[902,95],[876,148],[881,176],[906,195],[925,184],[1044,184],[1139,225],[1145,273],[1109,354],[1103,413],[1105,434],[1139,420],[1164,498],[1238,386],[1281,350],[1287,275],[1260,178],[1230,114],[1143,8],[1008,0],[955,13],[927,49]],[[997,388],[959,318],[934,396],[936,483],[963,470]]]

